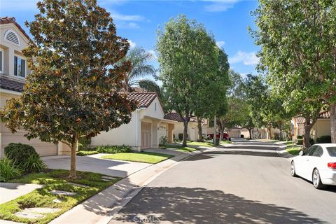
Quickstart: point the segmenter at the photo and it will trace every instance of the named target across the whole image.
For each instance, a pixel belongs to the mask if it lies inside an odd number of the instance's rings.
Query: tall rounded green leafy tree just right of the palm
[[[183,146],[200,94],[215,80],[218,71],[218,48],[203,25],[185,15],[172,18],[158,31],[160,80],[167,92],[167,105],[183,117]],[[202,99],[200,99],[202,97]]]

